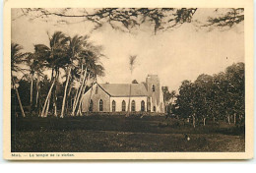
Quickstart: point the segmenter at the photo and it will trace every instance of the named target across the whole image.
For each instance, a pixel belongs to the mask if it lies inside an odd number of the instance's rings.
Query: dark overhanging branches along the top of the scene
[[[54,16],[59,24],[69,25],[69,19],[76,18],[78,23],[92,22],[95,29],[108,24],[112,29],[131,30],[138,29],[142,25],[150,24],[155,34],[159,30],[178,28],[185,23],[195,23],[193,16],[197,8],[97,8],[97,9],[22,9],[23,16],[29,16],[32,20],[42,19],[48,21]],[[222,11],[216,9],[216,13]],[[244,20],[244,9],[224,9],[217,17],[209,17],[207,23],[200,27],[231,28]]]

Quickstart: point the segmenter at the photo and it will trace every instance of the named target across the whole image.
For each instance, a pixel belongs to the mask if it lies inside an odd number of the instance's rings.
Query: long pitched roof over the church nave
[[[130,84],[98,84],[111,96],[129,96]],[[148,96],[144,84],[131,84],[131,96]]]

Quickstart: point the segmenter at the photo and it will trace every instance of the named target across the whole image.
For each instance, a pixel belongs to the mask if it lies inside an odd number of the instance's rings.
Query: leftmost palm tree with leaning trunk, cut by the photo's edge
[[[17,43],[14,43],[14,42],[11,43],[11,79],[12,79],[13,87],[15,88],[15,91],[16,91],[16,94],[17,94],[17,98],[18,98],[19,105],[20,105],[20,108],[21,108],[21,111],[22,111],[22,115],[23,115],[23,117],[26,117],[26,114],[25,114],[24,109],[23,109],[23,104],[22,104],[22,101],[21,101],[21,97],[20,97],[20,94],[19,94],[19,90],[16,87],[16,83],[15,83],[14,75],[13,75],[13,73],[19,73],[19,72],[23,73],[23,71],[24,71],[24,69],[22,69],[20,67],[20,65],[22,63],[26,62],[25,58],[29,54],[28,53],[22,53],[21,52],[22,49],[23,49],[23,47],[21,45],[19,45]]]

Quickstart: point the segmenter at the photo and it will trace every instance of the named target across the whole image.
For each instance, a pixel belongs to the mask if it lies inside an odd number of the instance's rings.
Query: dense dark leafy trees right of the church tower
[[[225,72],[210,76],[202,74],[194,83],[183,81],[176,95],[172,113],[198,121],[224,119],[236,124],[245,119],[244,63],[236,63]]]

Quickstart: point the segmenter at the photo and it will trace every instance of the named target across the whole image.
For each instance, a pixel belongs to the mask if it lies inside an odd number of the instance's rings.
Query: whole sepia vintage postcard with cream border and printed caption
[[[253,157],[252,0],[4,6],[5,159]]]

